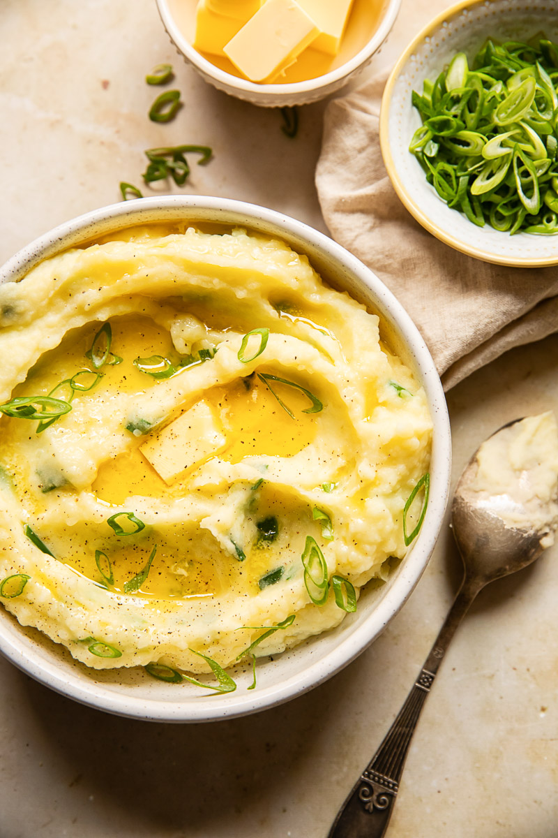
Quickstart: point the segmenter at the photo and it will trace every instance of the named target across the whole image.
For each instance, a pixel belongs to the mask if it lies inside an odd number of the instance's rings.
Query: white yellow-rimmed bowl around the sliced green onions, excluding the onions
[[[558,39],[555,0],[464,0],[434,18],[403,52],[387,80],[381,101],[380,142],[387,173],[403,204],[441,241],[477,259],[499,265],[540,267],[558,264],[558,235],[533,235],[477,227],[438,197],[409,143],[421,125],[412,91],[422,93],[453,55],[472,59],[487,38],[526,41],[544,32]]]

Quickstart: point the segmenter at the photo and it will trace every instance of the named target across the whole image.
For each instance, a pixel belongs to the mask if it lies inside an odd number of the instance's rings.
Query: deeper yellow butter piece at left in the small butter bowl
[[[260,8],[264,0],[199,0],[194,49],[223,55],[223,47]]]

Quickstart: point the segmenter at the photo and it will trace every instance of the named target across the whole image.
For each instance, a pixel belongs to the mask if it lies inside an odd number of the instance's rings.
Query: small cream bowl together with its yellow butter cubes
[[[179,54],[220,91],[279,107],[337,91],[387,38],[401,0],[156,0]]]

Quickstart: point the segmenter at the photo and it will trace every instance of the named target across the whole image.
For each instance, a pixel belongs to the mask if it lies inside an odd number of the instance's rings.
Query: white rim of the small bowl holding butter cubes
[[[212,64],[211,61],[204,58],[201,53],[198,53],[197,49],[194,49],[192,44],[190,44],[182,34],[182,30],[178,28],[177,23],[175,23],[175,19],[171,14],[171,10],[168,7],[168,0],[156,0],[161,20],[167,33],[171,36],[173,43],[178,49],[180,49],[182,54],[186,56],[188,61],[201,70],[205,75],[215,81],[218,81],[221,85],[227,85],[234,90],[243,91],[245,94],[249,93],[253,96],[277,95],[278,97],[282,95],[284,98],[301,93],[311,93],[313,91],[320,90],[322,87],[334,85],[335,82],[344,79],[347,75],[351,75],[354,70],[365,64],[366,61],[371,58],[371,55],[376,52],[376,49],[378,49],[381,44],[383,44],[385,39],[387,39],[387,35],[390,33],[397,18],[397,14],[399,13],[401,3],[402,0],[386,0],[386,13],[384,17],[381,18],[380,25],[374,30],[371,39],[366,43],[366,46],[359,50],[356,55],[353,55],[353,57],[346,61],[345,64],[340,65],[340,67],[335,68],[335,70],[330,70],[329,73],[318,75],[314,79],[277,85],[256,84],[254,81],[248,81],[248,79],[242,79],[237,75],[227,73],[225,70],[221,70],[219,67]]]

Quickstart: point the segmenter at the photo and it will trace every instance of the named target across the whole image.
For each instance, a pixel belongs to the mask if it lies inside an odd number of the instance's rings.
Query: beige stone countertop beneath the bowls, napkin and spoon
[[[447,0],[403,0],[368,74]],[[141,183],[143,149],[209,144],[185,191],[265,204],[325,230],[314,188],[324,104],[299,136],[277,111],[207,86],[154,0],[3,0],[0,261]],[[184,106],[161,126],[144,83],[175,65]],[[412,313],[412,312],[411,312]],[[449,393],[453,480],[504,422],[558,411],[558,336]],[[5,363],[5,361],[3,361]],[[0,838],[325,838],[397,714],[458,586],[448,525],[402,612],[325,685],[233,722],[166,726],[74,704],[0,660]],[[390,838],[558,835],[558,546],[484,591],[453,641],[412,742]]]

